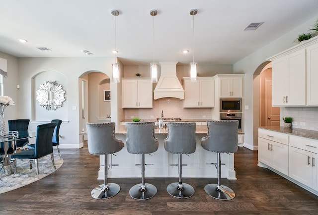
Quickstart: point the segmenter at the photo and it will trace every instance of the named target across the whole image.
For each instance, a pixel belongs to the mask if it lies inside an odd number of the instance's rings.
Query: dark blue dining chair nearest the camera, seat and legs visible
[[[11,159],[15,159],[14,160],[15,172],[16,172],[16,159],[34,160],[35,166],[36,166],[36,173],[39,179],[40,175],[39,175],[38,159],[46,155],[51,155],[52,164],[54,166],[54,169],[56,169],[54,164],[53,147],[52,147],[52,135],[53,135],[55,126],[56,126],[55,123],[47,123],[47,124],[41,124],[37,126],[35,149],[23,150],[11,156]]]

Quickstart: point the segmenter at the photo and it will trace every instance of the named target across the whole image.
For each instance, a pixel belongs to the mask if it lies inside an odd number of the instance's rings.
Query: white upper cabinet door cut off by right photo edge
[[[307,105],[318,105],[318,44],[306,49]]]

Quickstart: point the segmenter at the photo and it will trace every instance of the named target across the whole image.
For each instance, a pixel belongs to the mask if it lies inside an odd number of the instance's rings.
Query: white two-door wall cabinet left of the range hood
[[[153,84],[150,78],[122,79],[123,108],[152,108]]]

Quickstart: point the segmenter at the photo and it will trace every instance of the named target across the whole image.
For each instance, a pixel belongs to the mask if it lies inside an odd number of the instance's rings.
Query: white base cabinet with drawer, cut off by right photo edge
[[[291,136],[289,177],[318,191],[318,141]]]

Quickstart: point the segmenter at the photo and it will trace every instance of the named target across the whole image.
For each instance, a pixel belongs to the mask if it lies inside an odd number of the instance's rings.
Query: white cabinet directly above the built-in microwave
[[[217,75],[220,98],[243,97],[243,75]]]

